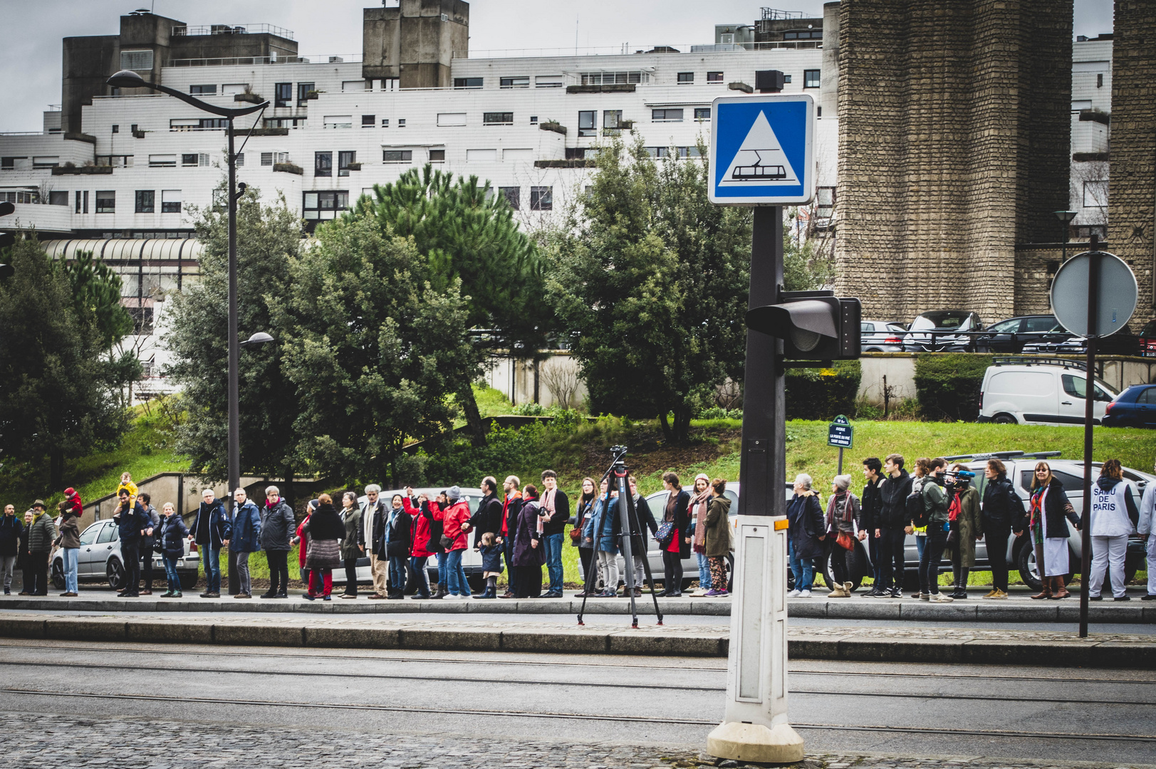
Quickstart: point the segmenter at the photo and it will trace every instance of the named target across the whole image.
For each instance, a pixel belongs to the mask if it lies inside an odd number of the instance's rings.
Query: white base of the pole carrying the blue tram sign
[[[802,761],[787,723],[787,519],[739,516],[726,716],[706,752],[734,761]]]

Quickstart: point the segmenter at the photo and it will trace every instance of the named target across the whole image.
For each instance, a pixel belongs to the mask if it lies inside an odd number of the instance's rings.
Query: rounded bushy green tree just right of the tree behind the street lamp
[[[460,281],[435,291],[413,241],[364,217],[319,227],[289,278],[273,301],[299,400],[287,448],[319,475],[400,480],[407,439],[450,429],[452,395],[481,374]]]

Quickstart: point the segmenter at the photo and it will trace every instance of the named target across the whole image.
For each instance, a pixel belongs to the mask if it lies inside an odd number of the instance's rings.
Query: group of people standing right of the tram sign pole
[[[868,457],[862,463],[862,495],[851,491],[851,475],[837,475],[827,505],[812,488],[813,479],[800,473],[787,504],[788,559],[794,577],[791,597],[810,598],[815,571],[830,559],[835,584],[829,598],[850,598],[855,570],[855,540],[866,542],[873,584],[864,598],[902,598],[906,571],[906,539],[914,535],[919,554],[919,587],[911,598],[949,602],[968,598],[968,577],[976,567],[976,544],[987,545],[992,589],[983,598],[1008,597],[1008,540],[1029,537],[1039,568],[1042,590],[1031,598],[1064,599],[1072,593],[1065,581],[1072,571],[1068,538],[1082,527],[1081,517],[1046,461],[1035,466],[1030,497],[1024,502],[999,459],[984,468],[983,504],[965,465],[942,457],[916,460],[909,473],[902,454],[883,461]],[[1124,481],[1118,459],[1109,459],[1092,489],[1092,509],[1083,519],[1091,526],[1091,576],[1089,596],[1102,600],[1105,572],[1111,576],[1114,600],[1129,600],[1124,586],[1128,537],[1139,532],[1147,539],[1149,562],[1156,562],[1156,483],[1149,483],[1138,508]],[[951,590],[941,592],[940,562],[950,554]],[[1149,569],[1148,594],[1156,600],[1156,570]]]

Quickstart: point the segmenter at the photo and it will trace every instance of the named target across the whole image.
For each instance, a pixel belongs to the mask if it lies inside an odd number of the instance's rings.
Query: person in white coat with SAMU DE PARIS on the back
[[[1104,571],[1109,568],[1112,570],[1112,599],[1131,600],[1124,589],[1124,557],[1128,549],[1128,534],[1135,531],[1139,520],[1140,511],[1132,498],[1132,486],[1124,480],[1120,460],[1109,459],[1099,471],[1099,480],[1091,487],[1089,600],[1101,600]]]

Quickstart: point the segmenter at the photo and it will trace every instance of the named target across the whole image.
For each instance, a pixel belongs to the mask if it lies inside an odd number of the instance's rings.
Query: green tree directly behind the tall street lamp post
[[[225,183],[217,190],[223,193]],[[178,450],[190,471],[221,481],[228,475],[228,331],[229,221],[223,210],[192,209],[197,237],[205,246],[201,280],[172,297],[165,343],[168,367],[184,389],[188,419],[179,426]],[[271,304],[289,283],[289,260],[301,250],[301,220],[282,195],[274,206],[260,204],[250,186],[237,201],[238,335],[275,334]],[[292,422],[299,406],[288,386],[281,347],[242,349],[239,371],[240,459],[245,473],[291,479]]]

